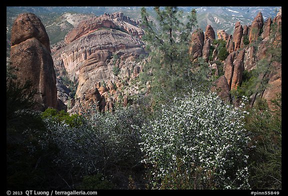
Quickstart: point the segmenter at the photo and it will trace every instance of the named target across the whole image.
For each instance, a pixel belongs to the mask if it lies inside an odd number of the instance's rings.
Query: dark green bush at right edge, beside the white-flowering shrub
[[[260,103],[260,105],[258,105]],[[249,182],[252,189],[281,189],[281,96],[270,111],[262,102],[247,110],[244,122],[250,133]]]

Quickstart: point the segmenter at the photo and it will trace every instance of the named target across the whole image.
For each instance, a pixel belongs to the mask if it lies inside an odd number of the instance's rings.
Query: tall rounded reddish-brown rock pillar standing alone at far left
[[[50,55],[49,38],[40,19],[32,13],[20,14],[11,31],[10,60],[16,66],[17,79],[31,80],[39,94],[34,100],[36,110],[57,108],[56,77]]]

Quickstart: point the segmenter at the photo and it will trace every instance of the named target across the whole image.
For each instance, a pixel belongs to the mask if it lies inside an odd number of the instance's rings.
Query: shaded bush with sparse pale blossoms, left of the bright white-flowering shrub
[[[65,121],[44,119],[59,149],[54,160],[58,167],[68,167],[66,170],[74,176],[99,173],[112,181],[122,180],[113,179],[117,172],[140,167],[139,134],[131,127],[142,123],[140,113],[126,107],[113,113],[88,112],[83,118],[85,123],[72,127]],[[118,184],[124,186],[125,182]]]

